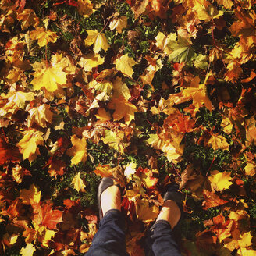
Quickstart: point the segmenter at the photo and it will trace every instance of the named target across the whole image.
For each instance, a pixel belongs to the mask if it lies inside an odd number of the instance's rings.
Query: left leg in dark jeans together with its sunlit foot
[[[106,180],[105,180],[106,181]],[[107,180],[109,182],[109,180]],[[106,182],[105,182],[106,183]],[[104,185],[103,183],[100,184]],[[118,187],[110,186],[100,196],[100,221],[98,232],[92,240],[86,256],[125,256],[125,220],[121,210],[121,193]]]

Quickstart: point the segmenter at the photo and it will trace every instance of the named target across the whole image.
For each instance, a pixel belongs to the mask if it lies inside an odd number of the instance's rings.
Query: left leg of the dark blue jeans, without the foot
[[[129,256],[126,253],[125,220],[116,209],[109,210],[101,219],[98,232],[86,256]]]

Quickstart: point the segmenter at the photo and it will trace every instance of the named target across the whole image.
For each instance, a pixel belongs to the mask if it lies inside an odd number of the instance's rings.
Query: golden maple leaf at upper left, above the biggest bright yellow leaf
[[[36,27],[35,30],[30,32],[30,38],[32,40],[38,40],[38,45],[44,47],[48,43],[54,43],[57,41],[57,34],[55,32],[45,30],[44,27]]]

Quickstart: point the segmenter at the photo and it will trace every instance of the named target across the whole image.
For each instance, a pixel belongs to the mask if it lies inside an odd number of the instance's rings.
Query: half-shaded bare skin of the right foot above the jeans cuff
[[[158,215],[156,221],[163,219],[169,222],[172,229],[177,225],[181,217],[179,206],[175,201],[166,200],[162,206],[162,210]]]

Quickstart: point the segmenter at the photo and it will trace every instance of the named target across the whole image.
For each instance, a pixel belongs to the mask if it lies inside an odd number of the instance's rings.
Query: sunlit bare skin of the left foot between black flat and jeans
[[[121,211],[121,192],[119,187],[113,185],[101,194],[101,211],[104,216],[108,210],[117,209]]]

